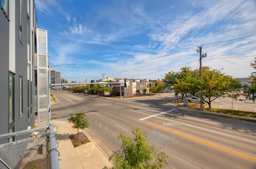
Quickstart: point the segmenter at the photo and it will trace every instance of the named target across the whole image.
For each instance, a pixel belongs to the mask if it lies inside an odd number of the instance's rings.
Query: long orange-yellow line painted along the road
[[[185,137],[185,138],[188,138],[188,139],[191,139],[191,140],[194,140],[194,141],[198,141],[198,142],[203,143],[203,144],[206,144],[206,145],[210,145],[211,147],[218,148],[218,149],[227,151],[227,152],[232,153],[232,154],[235,154],[235,155],[239,155],[240,157],[244,157],[244,158],[246,158],[246,159],[250,159],[250,160],[252,160],[252,161],[256,161],[256,158],[254,158],[254,157],[250,157],[250,156],[248,156],[248,155],[245,155],[245,154],[242,154],[242,153],[238,153],[238,152],[236,152],[236,151],[233,151],[233,150],[230,150],[230,149],[221,147],[221,146],[219,146],[219,145],[215,145],[215,144],[209,143],[209,142],[207,142],[207,141],[203,141],[203,140],[200,140],[200,139],[197,139],[197,138],[194,138],[194,137],[191,137],[191,136],[188,136],[188,135],[179,133],[179,132],[175,132],[175,131],[173,131],[173,130],[170,130],[170,129],[167,129],[167,128],[164,128],[164,127],[161,127],[161,126],[157,126],[157,125],[152,124],[152,123],[149,123],[149,122],[145,122],[145,121],[142,121],[142,120],[139,120],[139,121],[141,121],[141,122],[143,122],[143,123],[146,123],[146,124],[148,124],[148,125],[150,125],[150,126],[154,126],[154,127],[156,127],[156,128],[160,128],[160,129],[162,129],[162,130],[166,130],[166,131],[168,131],[168,132],[171,132],[171,133],[180,135],[180,136],[182,136],[182,137]]]

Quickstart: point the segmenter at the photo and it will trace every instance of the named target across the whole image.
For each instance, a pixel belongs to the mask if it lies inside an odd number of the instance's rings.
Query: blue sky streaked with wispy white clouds
[[[50,65],[90,65],[54,67],[72,81],[156,80],[198,69],[198,45],[207,53],[202,66],[237,78],[255,71],[256,0],[34,1]]]

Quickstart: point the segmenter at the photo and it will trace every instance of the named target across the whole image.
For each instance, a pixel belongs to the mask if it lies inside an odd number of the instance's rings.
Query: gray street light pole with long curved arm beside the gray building
[[[83,64],[60,64],[54,65],[52,67],[62,66],[62,65],[83,65]],[[90,66],[90,65],[83,65]],[[48,65],[48,124],[51,124],[51,66]]]

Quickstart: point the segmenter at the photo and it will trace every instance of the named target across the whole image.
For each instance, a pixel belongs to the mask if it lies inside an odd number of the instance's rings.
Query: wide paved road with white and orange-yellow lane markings
[[[131,128],[148,133],[158,151],[166,151],[171,168],[256,168],[256,124],[178,110],[166,106],[168,96],[104,98],[55,92],[52,118],[66,120],[84,110],[87,132],[110,156],[120,149],[118,136],[132,136]]]

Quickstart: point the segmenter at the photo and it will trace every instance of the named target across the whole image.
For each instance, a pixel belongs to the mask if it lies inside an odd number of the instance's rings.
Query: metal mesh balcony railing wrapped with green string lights
[[[22,135],[30,138],[0,145],[0,169],[59,169],[54,126],[0,135],[0,140]]]

